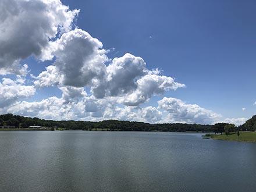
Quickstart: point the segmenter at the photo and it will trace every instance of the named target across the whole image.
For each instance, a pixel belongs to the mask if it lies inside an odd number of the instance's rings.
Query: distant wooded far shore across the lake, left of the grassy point
[[[210,132],[213,125],[187,123],[157,123],[130,122],[126,120],[102,120],[89,122],[82,120],[45,120],[29,118],[13,114],[0,115],[0,129],[61,129],[61,130],[104,130],[104,131],[202,131]]]

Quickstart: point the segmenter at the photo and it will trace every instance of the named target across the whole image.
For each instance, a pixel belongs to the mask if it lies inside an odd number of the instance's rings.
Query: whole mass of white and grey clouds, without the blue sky
[[[153,95],[185,87],[159,70],[147,69],[143,58],[125,54],[109,59],[102,42],[72,26],[79,10],[69,10],[59,0],[0,1],[0,74],[15,73],[16,80],[0,83],[0,112],[44,119],[136,120],[149,123],[213,123],[220,115],[186,104],[180,99],[163,98],[158,108],[140,104]],[[73,29],[73,30],[72,30]],[[52,61],[27,86],[29,56]],[[62,97],[27,102],[35,87],[56,86]],[[90,90],[87,94],[85,90]],[[226,119],[242,122],[244,119]]]

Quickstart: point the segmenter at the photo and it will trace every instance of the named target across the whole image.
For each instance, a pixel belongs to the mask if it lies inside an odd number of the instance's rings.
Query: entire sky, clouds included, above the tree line
[[[255,1],[1,0],[0,113],[244,123]]]

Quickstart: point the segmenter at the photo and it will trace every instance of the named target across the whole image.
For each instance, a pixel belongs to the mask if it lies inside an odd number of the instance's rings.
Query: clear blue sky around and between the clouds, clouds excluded
[[[176,91],[153,94],[140,106],[157,108],[157,101],[172,97],[221,114],[220,120],[254,115],[255,1],[62,3],[70,10],[80,9],[73,24],[101,41],[104,49],[111,50],[106,54],[108,58],[122,57],[127,52],[140,56],[147,69],[161,69],[163,75],[186,85]],[[20,63],[27,63],[30,73],[38,76],[45,67],[54,65],[54,60],[39,61],[29,56]],[[30,76],[26,81],[27,86],[33,85]],[[90,92],[90,88],[84,88]],[[62,97],[62,93],[58,86],[41,87],[22,100],[40,102],[52,96]]]

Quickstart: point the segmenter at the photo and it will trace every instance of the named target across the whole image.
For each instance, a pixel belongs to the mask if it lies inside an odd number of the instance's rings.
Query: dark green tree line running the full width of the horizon
[[[240,130],[255,130],[256,116],[254,123],[247,121],[245,125],[235,127],[229,123],[216,123],[215,125],[199,125],[187,123],[158,123],[150,124],[143,122],[130,122],[125,120],[103,120],[101,122],[87,122],[74,120],[45,120],[29,118],[13,114],[0,115],[0,126],[14,126],[27,128],[29,126],[41,126],[49,128],[62,128],[64,130],[108,130],[108,131],[202,131],[225,133],[225,129],[232,132]],[[228,126],[227,126],[228,125]],[[226,126],[226,128],[225,128]],[[253,127],[253,128],[252,128]]]

